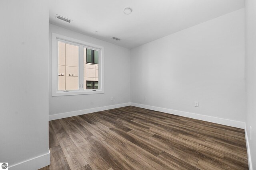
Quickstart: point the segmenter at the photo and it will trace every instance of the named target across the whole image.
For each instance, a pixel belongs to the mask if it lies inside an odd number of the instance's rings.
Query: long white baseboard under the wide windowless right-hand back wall
[[[242,121],[234,121],[234,120],[230,120],[230,119],[223,119],[223,118],[219,118],[219,117],[200,115],[200,114],[190,113],[190,112],[186,112],[186,111],[166,109],[166,108],[162,108],[162,107],[155,107],[155,106],[149,106],[149,105],[144,105],[144,104],[131,103],[131,106],[141,107],[144,109],[150,109],[150,110],[155,110],[155,111],[161,111],[161,112],[170,113],[173,115],[179,115],[179,116],[184,116],[184,117],[189,117],[189,118],[193,118],[193,119],[209,121],[212,123],[218,123],[218,124],[222,124],[222,125],[227,125],[227,126],[244,129],[244,122],[242,122]]]

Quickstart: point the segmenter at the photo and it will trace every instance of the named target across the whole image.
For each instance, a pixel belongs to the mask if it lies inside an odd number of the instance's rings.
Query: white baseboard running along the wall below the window
[[[83,115],[83,114],[87,114],[87,113],[93,113],[93,112],[97,112],[97,111],[115,109],[115,108],[119,108],[119,107],[130,106],[130,105],[131,105],[131,103],[122,103],[122,104],[115,104],[115,105],[110,105],[110,106],[95,107],[95,108],[91,108],[91,109],[70,111],[70,112],[66,112],[66,113],[58,113],[58,114],[54,114],[54,115],[49,115],[49,121],[56,120],[56,119],[62,119],[62,118],[66,118],[66,117],[71,117],[71,116]]]

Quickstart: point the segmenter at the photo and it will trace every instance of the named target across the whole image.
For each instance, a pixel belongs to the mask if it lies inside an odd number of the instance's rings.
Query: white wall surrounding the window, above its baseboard
[[[52,97],[52,33],[58,33],[104,47],[104,94]],[[130,102],[129,49],[52,24],[49,25],[49,49],[50,115]],[[113,101],[110,100],[111,96],[114,97]]]

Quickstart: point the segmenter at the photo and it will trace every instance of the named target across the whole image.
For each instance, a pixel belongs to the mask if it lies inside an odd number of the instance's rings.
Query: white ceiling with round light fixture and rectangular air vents
[[[240,8],[244,0],[50,0],[49,21],[132,49]]]

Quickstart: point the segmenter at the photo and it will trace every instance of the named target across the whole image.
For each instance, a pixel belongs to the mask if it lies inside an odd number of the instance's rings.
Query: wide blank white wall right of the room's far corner
[[[132,103],[244,122],[244,101],[244,9],[131,50]]]

